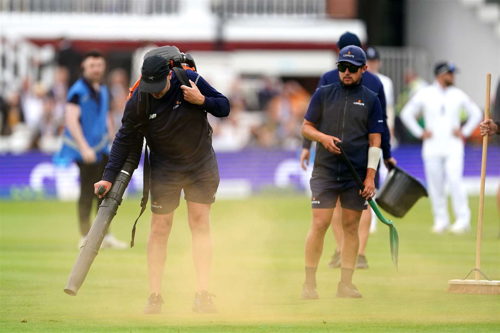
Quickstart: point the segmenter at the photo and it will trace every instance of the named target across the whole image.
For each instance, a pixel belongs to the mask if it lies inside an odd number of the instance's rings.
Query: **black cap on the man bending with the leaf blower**
[[[165,58],[155,54],[144,59],[141,72],[139,89],[144,92],[158,92],[165,88],[170,68]]]

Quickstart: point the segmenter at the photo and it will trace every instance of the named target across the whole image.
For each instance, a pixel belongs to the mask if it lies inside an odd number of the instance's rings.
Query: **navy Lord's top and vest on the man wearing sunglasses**
[[[318,131],[335,136],[361,179],[366,177],[368,134],[383,132],[382,109],[376,93],[361,83],[323,85],[312,95],[305,119]],[[335,181],[353,177],[339,155],[316,145],[313,176]]]

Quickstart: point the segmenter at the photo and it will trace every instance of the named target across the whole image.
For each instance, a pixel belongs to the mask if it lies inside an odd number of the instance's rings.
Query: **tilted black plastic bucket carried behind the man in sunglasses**
[[[389,214],[403,217],[427,190],[415,177],[393,166],[376,195],[376,203]]]

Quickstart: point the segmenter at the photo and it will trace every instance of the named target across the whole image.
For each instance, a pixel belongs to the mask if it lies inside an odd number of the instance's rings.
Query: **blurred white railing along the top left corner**
[[[172,14],[180,0],[0,0],[13,13]]]

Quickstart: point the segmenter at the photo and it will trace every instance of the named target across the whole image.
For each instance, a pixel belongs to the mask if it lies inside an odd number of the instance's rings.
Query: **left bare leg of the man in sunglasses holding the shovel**
[[[312,223],[305,239],[305,267],[317,267],[323,252],[324,235],[334,209],[312,209]]]

